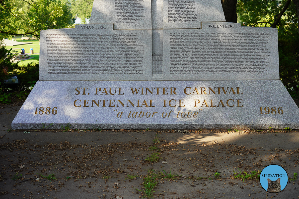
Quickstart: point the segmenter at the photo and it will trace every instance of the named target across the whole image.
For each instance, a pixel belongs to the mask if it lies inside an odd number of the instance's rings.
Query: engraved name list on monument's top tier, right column
[[[197,21],[195,0],[168,0],[168,23]]]

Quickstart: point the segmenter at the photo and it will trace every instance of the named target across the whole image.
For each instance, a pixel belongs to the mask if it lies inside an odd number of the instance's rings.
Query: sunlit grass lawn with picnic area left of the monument
[[[17,39],[17,41],[22,41],[22,39]],[[30,57],[33,57],[33,59],[28,59],[25,61],[19,61],[19,66],[24,66],[27,65],[28,63],[37,63],[39,60],[39,40],[37,39],[29,39],[29,40],[24,40],[23,42],[33,42],[32,44],[25,44],[25,45],[18,45],[18,46],[6,46],[7,49],[12,48],[15,50],[17,53],[21,53],[21,49],[24,48],[25,53],[30,53],[30,48],[33,48],[33,53],[31,54]]]

